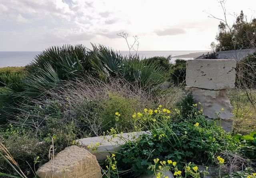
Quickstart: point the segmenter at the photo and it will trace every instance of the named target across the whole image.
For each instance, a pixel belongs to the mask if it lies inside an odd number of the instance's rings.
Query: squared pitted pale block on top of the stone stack
[[[236,61],[232,59],[188,60],[186,85],[210,90],[234,88]]]

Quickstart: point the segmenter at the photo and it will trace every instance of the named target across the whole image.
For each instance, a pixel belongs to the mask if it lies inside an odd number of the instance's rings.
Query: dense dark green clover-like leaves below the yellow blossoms
[[[199,127],[194,126],[196,122]],[[165,136],[161,137],[162,134]],[[155,158],[176,161],[180,170],[184,162],[214,165],[216,154],[237,148],[230,134],[199,118],[172,123],[169,128],[154,129],[152,135],[144,134],[137,141],[128,141],[116,153],[116,161],[119,171],[130,170],[127,177],[136,177],[145,172],[152,174],[148,166],[154,164]],[[126,174],[122,177],[126,177]]]

